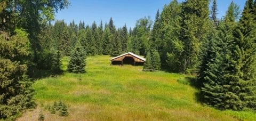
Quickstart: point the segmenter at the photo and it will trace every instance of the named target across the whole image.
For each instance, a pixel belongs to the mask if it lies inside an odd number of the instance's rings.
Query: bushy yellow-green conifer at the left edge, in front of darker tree
[[[13,118],[35,106],[32,82],[25,75],[31,54],[27,35],[21,29],[8,41],[0,35],[0,119]]]

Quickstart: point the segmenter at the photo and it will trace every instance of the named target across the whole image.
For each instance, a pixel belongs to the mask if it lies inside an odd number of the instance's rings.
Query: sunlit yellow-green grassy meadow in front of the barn
[[[63,120],[255,120],[250,111],[220,111],[197,102],[186,75],[143,72],[141,66],[111,66],[109,56],[86,59],[85,74],[37,80],[37,102],[63,101]],[[63,58],[62,69],[67,69]],[[52,119],[56,117],[52,117]]]

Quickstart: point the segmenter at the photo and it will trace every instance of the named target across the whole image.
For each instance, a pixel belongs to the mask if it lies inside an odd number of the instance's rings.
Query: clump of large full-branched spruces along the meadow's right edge
[[[255,103],[255,32],[252,1],[247,1],[242,18],[236,24],[232,2],[217,35],[208,44],[199,71],[204,101],[224,110],[254,109]],[[213,34],[214,35],[214,34]],[[255,109],[254,109],[255,110]]]

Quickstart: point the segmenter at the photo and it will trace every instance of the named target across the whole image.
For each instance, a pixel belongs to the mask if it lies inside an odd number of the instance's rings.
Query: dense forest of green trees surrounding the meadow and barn
[[[61,74],[62,57],[70,57],[68,71],[86,72],[86,56],[125,52],[145,56],[145,70],[196,75],[210,106],[256,110],[256,1],[247,0],[242,11],[231,2],[221,19],[217,0],[173,0],[154,22],[143,17],[134,28],[116,28],[113,18],[52,24],[54,12],[68,5],[0,2],[0,118],[33,108],[31,84],[45,73]]]

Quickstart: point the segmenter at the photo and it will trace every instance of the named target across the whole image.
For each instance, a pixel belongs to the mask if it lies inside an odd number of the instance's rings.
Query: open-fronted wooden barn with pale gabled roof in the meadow
[[[142,66],[145,61],[145,58],[142,58],[139,55],[129,52],[119,55],[118,57],[112,58],[111,64],[119,64],[122,66],[123,64],[132,64],[134,66]]]

